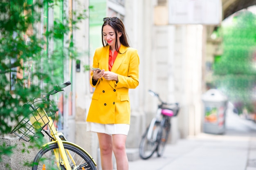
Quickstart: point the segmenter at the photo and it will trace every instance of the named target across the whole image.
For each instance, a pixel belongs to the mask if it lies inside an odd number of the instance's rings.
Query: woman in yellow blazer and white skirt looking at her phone
[[[102,47],[96,49],[90,83],[95,87],[87,117],[87,130],[97,132],[103,170],[128,170],[126,137],[130,127],[129,88],[139,85],[139,55],[130,48],[123,22],[103,18]],[[101,71],[100,71],[101,70]]]

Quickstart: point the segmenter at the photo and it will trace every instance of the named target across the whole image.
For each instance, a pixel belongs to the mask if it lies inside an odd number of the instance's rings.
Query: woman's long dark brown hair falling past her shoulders
[[[115,20],[112,20],[112,19],[115,19]],[[116,34],[115,50],[118,53],[120,53],[120,52],[119,52],[118,44],[117,44],[117,32],[122,33],[121,37],[119,38],[121,44],[123,44],[124,46],[130,47],[128,40],[127,40],[127,34],[125,31],[124,24],[123,24],[122,20],[117,17],[108,18],[107,20],[104,21],[104,23],[101,27],[101,39],[102,39],[103,46],[108,45],[108,43],[103,38],[103,26],[105,26],[105,25],[109,25],[115,30],[115,34]]]

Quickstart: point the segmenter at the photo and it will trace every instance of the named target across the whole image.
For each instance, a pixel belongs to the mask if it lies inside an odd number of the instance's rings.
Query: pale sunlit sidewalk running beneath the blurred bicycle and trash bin
[[[164,155],[129,161],[130,170],[256,170],[256,124],[227,114],[224,135],[201,133],[168,144]]]

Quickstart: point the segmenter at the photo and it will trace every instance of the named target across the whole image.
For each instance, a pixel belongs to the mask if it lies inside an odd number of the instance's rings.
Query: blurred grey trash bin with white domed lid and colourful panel
[[[217,89],[210,89],[202,95],[204,103],[203,132],[225,133],[227,97]]]

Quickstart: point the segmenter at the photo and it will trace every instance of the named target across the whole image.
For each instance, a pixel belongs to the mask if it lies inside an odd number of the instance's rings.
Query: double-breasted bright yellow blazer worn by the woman
[[[110,46],[99,47],[93,57],[93,68],[108,71]],[[99,124],[130,124],[129,88],[139,85],[139,55],[136,49],[121,45],[112,72],[117,73],[115,80],[98,79],[94,86],[92,102],[87,121]],[[91,72],[91,75],[93,73]],[[91,76],[92,77],[92,76]],[[92,79],[90,79],[92,84]]]

